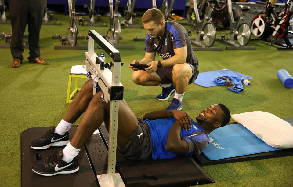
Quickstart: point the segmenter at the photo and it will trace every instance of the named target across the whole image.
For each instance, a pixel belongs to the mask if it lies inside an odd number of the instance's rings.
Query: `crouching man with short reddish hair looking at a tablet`
[[[194,82],[199,73],[198,61],[192,50],[188,34],[182,25],[176,22],[165,22],[158,9],[147,10],[143,17],[143,26],[147,30],[146,53],[142,60],[133,64],[147,64],[146,71],[132,74],[132,81],[139,85],[161,86],[162,94],[158,100],[168,100],[175,96],[166,110],[181,110],[182,98],[188,84]],[[156,53],[163,60],[156,60]]]

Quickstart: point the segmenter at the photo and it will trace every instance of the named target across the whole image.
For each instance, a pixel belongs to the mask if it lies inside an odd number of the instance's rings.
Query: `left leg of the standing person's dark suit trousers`
[[[23,60],[23,37],[27,25],[29,0],[9,0],[9,16],[11,20],[10,51],[13,59]]]

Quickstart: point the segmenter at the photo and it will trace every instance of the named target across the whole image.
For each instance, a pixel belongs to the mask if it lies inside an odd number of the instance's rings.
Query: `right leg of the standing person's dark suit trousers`
[[[40,57],[40,30],[44,16],[44,0],[30,0],[28,12],[28,43],[30,46],[30,57]]]

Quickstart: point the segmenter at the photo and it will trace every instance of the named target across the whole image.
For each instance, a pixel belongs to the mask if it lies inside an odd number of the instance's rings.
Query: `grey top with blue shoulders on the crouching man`
[[[166,22],[162,38],[153,38],[147,34],[145,42],[147,53],[157,52],[164,60],[175,55],[173,49],[187,46],[186,62],[198,67],[188,34],[185,28],[176,22]]]

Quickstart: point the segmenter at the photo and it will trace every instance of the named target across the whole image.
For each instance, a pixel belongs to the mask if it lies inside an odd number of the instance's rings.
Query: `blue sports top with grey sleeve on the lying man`
[[[202,130],[194,121],[191,121],[192,128],[189,131],[181,130],[181,138],[187,141],[189,146],[188,153],[172,153],[165,149],[170,128],[176,121],[174,117],[156,120],[144,120],[150,127],[150,135],[153,143],[152,157],[156,159],[174,158],[177,155],[191,156],[200,154],[207,147],[209,142],[208,134]]]

